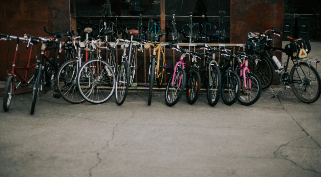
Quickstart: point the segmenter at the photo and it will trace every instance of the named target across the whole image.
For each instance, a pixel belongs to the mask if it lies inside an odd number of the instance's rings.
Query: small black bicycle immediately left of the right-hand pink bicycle
[[[227,51],[230,50],[217,50],[217,52],[222,53],[221,55],[226,56],[222,57],[223,64],[220,66],[222,75],[221,97],[226,105],[232,105],[239,98],[241,81],[233,69],[233,58],[236,57],[236,55],[232,55]]]

